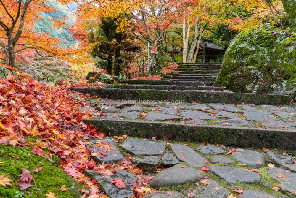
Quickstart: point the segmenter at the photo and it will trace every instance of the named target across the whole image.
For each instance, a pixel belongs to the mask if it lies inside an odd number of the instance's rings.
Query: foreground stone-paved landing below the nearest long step
[[[226,198],[237,197],[296,197],[295,151],[230,148],[214,143],[147,140],[133,137],[89,139],[88,149],[97,162],[117,163],[123,156],[152,176],[149,187],[157,189],[145,197]],[[112,148],[99,158],[104,145]],[[136,176],[126,170],[110,176],[85,170],[95,178],[109,197],[132,197]],[[121,179],[124,189],[116,188],[111,180]],[[275,191],[274,187],[280,188]],[[236,193],[242,189],[242,193]]]

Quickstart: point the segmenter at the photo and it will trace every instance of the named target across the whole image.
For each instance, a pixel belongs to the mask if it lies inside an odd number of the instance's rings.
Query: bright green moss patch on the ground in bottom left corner
[[[33,141],[33,140],[30,140]],[[83,185],[63,172],[59,167],[59,159],[56,155],[52,161],[49,159],[33,155],[31,148],[0,145],[0,165],[1,175],[9,175],[9,179],[14,180],[12,186],[0,185],[0,197],[44,197],[49,191],[54,192],[56,197],[81,197],[79,188]],[[35,168],[43,167],[38,173]],[[29,170],[34,175],[31,181],[32,187],[21,191],[18,183],[15,181],[22,174],[22,168]],[[36,183],[36,185],[35,185]],[[67,191],[60,191],[62,185],[70,188]]]

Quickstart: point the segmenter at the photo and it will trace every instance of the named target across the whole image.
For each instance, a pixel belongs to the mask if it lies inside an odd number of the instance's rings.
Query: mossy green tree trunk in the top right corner
[[[290,25],[290,31],[296,32],[296,0],[281,0],[288,15],[288,21]]]

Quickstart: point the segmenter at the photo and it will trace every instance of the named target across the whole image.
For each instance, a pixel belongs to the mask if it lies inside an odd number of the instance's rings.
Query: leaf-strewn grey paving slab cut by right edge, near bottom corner
[[[296,189],[296,173],[287,173],[281,168],[271,168],[267,174],[281,183],[282,191],[293,193]]]

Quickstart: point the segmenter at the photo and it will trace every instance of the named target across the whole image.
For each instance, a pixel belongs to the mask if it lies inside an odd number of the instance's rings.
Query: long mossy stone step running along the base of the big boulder
[[[173,81],[172,81],[173,82]],[[290,104],[291,95],[201,92],[201,91],[166,91],[149,89],[115,89],[115,88],[71,88],[71,90],[90,94],[99,98],[129,100],[167,100],[184,102],[206,102],[226,104]]]

